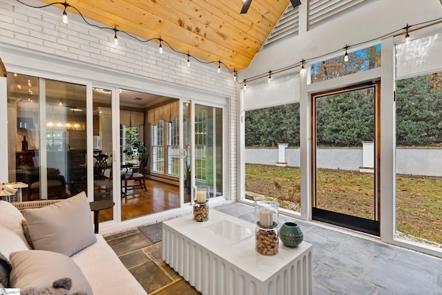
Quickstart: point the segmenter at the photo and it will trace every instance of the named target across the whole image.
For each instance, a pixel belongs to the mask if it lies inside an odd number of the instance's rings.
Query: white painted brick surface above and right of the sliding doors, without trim
[[[44,5],[39,1],[29,1],[33,5]],[[56,13],[53,13],[53,12]],[[236,82],[233,74],[222,70],[217,72],[218,63],[206,65],[191,59],[187,67],[186,55],[171,53],[163,44],[160,55],[157,44],[142,43],[119,33],[119,45],[113,44],[113,30],[100,30],[77,21],[69,14],[66,25],[61,22],[61,10],[54,8],[27,8],[15,0],[0,0],[0,43],[41,53],[57,55],[95,64],[123,72],[179,84],[209,93],[229,97],[231,179],[229,190],[236,198]],[[103,25],[101,25],[103,26]],[[0,52],[1,57],[1,52]],[[32,66],[31,66],[32,67]]]

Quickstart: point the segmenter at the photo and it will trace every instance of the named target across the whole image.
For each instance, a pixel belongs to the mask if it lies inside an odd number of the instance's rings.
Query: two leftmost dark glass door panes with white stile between
[[[86,190],[86,86],[8,74],[9,181],[22,200]],[[82,166],[83,165],[83,166]]]

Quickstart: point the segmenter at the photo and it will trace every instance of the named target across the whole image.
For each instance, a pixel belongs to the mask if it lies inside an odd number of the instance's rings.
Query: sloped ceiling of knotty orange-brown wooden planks
[[[41,0],[53,3],[52,0]],[[250,1],[250,0],[248,0]],[[142,39],[161,37],[173,48],[231,70],[247,68],[289,0],[68,0],[84,17]],[[63,6],[57,5],[63,9]],[[68,15],[77,13],[67,8]],[[113,31],[109,31],[113,35]],[[164,48],[165,45],[163,44]]]

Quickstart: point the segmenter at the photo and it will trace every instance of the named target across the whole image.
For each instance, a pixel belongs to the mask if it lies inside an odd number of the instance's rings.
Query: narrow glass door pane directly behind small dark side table
[[[94,200],[113,200],[112,91],[93,88]],[[117,175],[119,177],[119,174]],[[99,214],[100,222],[113,220],[113,208]]]

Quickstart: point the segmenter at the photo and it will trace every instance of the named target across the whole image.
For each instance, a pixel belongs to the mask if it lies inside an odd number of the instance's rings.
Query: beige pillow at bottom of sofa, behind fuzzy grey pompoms
[[[9,281],[13,288],[45,288],[55,280],[70,278],[70,292],[93,294],[81,269],[64,254],[41,250],[17,251],[11,253],[10,263],[12,271]]]

